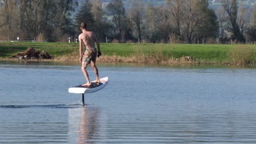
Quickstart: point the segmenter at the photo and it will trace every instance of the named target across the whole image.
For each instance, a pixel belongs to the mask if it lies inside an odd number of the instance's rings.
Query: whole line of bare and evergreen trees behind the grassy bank
[[[84,0],[80,6],[77,0],[0,0],[0,40],[66,41],[78,36],[82,21],[101,40],[120,43],[256,40],[256,6],[246,9],[242,1],[219,0],[217,11],[209,8],[208,0],[166,0],[157,7],[127,1],[129,9],[121,0]]]

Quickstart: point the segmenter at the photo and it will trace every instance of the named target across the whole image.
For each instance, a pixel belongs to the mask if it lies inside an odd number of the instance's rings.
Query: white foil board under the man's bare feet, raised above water
[[[94,93],[99,91],[100,89],[104,88],[108,84],[108,77],[104,77],[100,79],[101,83],[91,82],[91,86],[75,86],[68,88],[69,93]]]

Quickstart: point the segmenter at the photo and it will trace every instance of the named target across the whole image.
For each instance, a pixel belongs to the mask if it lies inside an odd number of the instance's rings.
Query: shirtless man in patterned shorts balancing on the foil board
[[[82,71],[84,73],[86,83],[82,86],[91,86],[91,82],[86,71],[87,65],[91,63],[91,67],[94,69],[96,74],[96,80],[94,82],[100,83],[100,78],[98,77],[98,69],[96,67],[96,57],[101,56],[100,43],[98,42],[96,35],[93,32],[86,30],[86,23],[82,22],[80,29],[83,33],[79,35],[79,52],[80,52],[80,62],[82,62]],[[83,53],[83,43],[85,45],[85,52]],[[95,48],[95,43],[97,44],[98,51]]]

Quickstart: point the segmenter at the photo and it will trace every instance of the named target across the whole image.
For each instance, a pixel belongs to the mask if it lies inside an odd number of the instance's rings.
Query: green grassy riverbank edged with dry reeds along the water
[[[10,56],[34,47],[46,51],[55,59],[52,61],[78,61],[78,43],[0,43],[0,58]],[[204,64],[254,64],[255,45],[218,44],[101,44],[103,56],[98,62],[130,63],[204,63]],[[189,56],[192,59],[185,59]]]

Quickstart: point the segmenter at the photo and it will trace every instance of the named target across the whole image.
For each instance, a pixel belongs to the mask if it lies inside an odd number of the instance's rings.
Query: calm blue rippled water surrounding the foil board
[[[0,143],[255,143],[256,69],[0,62]],[[93,70],[88,67],[91,80]]]

